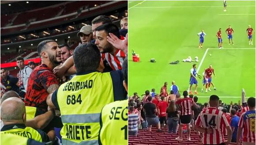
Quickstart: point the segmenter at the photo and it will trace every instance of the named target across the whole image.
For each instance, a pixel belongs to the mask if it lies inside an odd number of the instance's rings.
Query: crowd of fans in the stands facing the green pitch
[[[174,81],[168,95],[167,84],[165,82],[161,88],[161,95],[152,89],[151,92],[145,91],[142,98],[136,92],[129,96],[129,136],[137,136],[141,129],[151,131],[154,126],[157,132],[167,128],[170,134],[178,133],[177,141],[191,141],[191,130],[194,130],[202,134],[204,145],[227,145],[230,142],[240,145],[241,141],[243,145],[255,144],[255,98],[246,101],[244,89],[242,104],[241,101],[234,104],[231,101],[226,105],[217,95],[211,95],[209,102],[202,105],[198,103],[200,98],[188,94],[188,91],[183,91],[181,98]],[[188,138],[183,138],[185,132]]]

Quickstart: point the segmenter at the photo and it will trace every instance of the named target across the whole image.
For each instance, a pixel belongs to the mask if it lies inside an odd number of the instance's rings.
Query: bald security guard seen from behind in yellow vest
[[[49,137],[41,130],[34,130],[26,127],[26,109],[24,102],[20,98],[11,97],[1,104],[1,119],[4,127],[1,134],[17,134],[36,141],[49,141]]]

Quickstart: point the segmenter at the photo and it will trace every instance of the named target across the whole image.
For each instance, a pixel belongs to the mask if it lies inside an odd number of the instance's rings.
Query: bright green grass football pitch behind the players
[[[255,35],[253,45],[249,45],[246,33],[248,25],[256,29],[255,1],[227,1],[226,12],[223,1],[129,1],[128,7],[129,95],[144,94],[152,88],[159,93],[163,83],[167,81],[169,89],[172,80],[181,93],[188,90],[193,63],[182,59],[198,56],[199,74],[212,64],[217,76],[212,79],[217,91],[212,89],[208,93],[200,92],[202,80],[198,79],[199,102],[207,102],[211,94],[217,94],[228,104],[238,102],[242,88],[247,96],[255,97]],[[234,29],[235,45],[228,44],[225,33],[228,25]],[[218,49],[215,36],[219,28],[222,28],[222,50]],[[207,35],[203,49],[198,49],[197,33],[201,29]],[[139,54],[140,62],[132,62],[132,49]],[[150,63],[151,58],[156,63]],[[169,65],[176,60],[180,61],[178,65]]]

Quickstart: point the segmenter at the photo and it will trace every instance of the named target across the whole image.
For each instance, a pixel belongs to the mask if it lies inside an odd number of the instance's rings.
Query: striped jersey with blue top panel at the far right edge
[[[238,127],[243,128],[243,141],[255,142],[255,110],[243,112]]]

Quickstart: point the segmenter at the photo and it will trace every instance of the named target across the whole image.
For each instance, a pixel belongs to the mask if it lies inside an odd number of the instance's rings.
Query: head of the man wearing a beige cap
[[[92,40],[91,25],[83,26],[77,36],[80,36],[81,43],[89,43]]]

